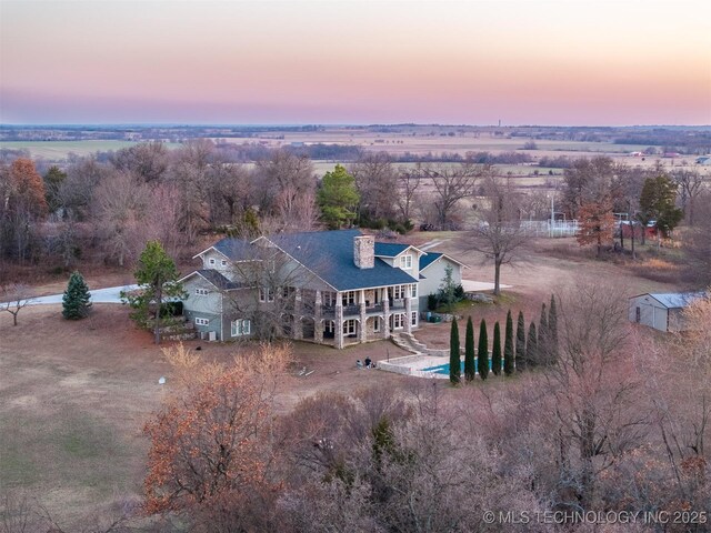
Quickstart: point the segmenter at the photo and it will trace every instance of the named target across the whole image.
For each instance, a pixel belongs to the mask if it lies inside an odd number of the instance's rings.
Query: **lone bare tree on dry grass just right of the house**
[[[468,234],[468,245],[493,261],[495,295],[501,294],[501,265],[518,259],[517,252],[525,242],[521,227],[519,198],[510,178],[489,174],[482,183],[487,205],[478,210],[479,220]]]

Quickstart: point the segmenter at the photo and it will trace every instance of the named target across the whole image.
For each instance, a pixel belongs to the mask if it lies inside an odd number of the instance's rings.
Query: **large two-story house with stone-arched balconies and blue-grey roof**
[[[202,338],[259,333],[339,349],[417,329],[445,265],[457,283],[463,266],[358,230],[226,238],[194,259],[202,269],[181,280],[183,312]]]

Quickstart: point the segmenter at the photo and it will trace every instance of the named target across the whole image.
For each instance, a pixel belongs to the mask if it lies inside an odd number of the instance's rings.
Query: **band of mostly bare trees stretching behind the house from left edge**
[[[136,144],[106,161],[74,158],[63,168],[4,161],[0,254],[18,263],[53,259],[69,269],[99,250],[107,264],[124,266],[149,240],[176,257],[209,231],[360,223],[403,232],[415,214],[447,225],[479,172],[471,162],[401,168],[385,153],[368,153],[319,177],[308,157],[289,150],[271,150],[253,164],[228,155],[198,139],[172,151],[158,142]]]

